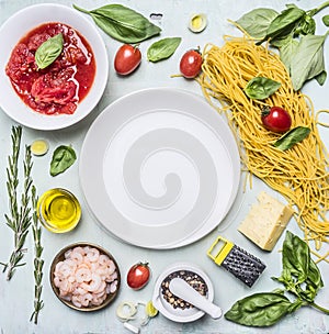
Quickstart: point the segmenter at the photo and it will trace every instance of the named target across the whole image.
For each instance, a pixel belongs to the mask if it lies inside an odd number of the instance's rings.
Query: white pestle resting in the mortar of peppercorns
[[[209,314],[213,319],[218,319],[223,314],[219,307],[208,301],[181,278],[173,278],[169,283],[169,290],[177,297]]]

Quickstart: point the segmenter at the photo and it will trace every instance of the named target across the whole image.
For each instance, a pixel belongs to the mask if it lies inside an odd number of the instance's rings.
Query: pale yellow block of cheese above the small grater
[[[294,211],[266,192],[258,196],[238,231],[264,250],[272,250]]]

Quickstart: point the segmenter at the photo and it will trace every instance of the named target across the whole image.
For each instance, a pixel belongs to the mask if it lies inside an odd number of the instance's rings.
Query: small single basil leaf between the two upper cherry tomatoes
[[[147,59],[156,63],[171,57],[180,45],[181,41],[181,37],[169,37],[155,42],[147,49]]]

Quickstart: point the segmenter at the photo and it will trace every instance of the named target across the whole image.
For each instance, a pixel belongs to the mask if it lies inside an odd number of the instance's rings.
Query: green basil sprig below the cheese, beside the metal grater
[[[282,249],[282,274],[273,280],[283,283],[285,289],[274,292],[254,293],[238,300],[228,310],[225,319],[246,326],[272,326],[283,316],[304,305],[310,305],[329,314],[329,310],[314,302],[317,292],[324,287],[321,274],[310,257],[308,245],[290,231],[286,232]],[[293,293],[291,301],[284,292]]]

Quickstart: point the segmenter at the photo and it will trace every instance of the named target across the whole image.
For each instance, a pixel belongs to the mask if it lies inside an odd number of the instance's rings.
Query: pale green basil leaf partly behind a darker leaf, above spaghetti
[[[266,35],[270,23],[279,13],[269,8],[258,8],[242,15],[236,23],[251,37],[263,38]]]

